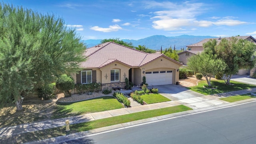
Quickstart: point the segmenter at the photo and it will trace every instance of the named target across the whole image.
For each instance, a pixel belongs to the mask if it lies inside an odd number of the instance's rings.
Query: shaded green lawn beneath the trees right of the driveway
[[[256,88],[256,86],[252,84],[244,84],[244,83],[235,82],[235,81],[230,81],[230,83],[234,85],[227,85],[225,84],[224,80],[211,80],[211,84],[214,86],[217,86],[217,89],[208,89],[208,88],[203,88],[203,86],[207,84],[206,80],[201,80],[200,82],[198,82],[198,86],[192,86],[188,89],[204,95],[210,95],[210,94],[219,94],[223,92],[245,90],[249,88]]]

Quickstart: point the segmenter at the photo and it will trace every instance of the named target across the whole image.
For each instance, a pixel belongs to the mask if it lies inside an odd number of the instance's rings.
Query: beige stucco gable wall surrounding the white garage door
[[[151,70],[173,70],[173,84],[175,84],[176,82],[179,81],[179,72],[177,72],[177,70],[180,68],[180,64],[176,64],[175,62],[172,62],[170,60],[168,60],[167,58],[164,57],[159,57],[156,60],[145,64],[144,66],[141,67],[142,72],[145,71],[151,71]],[[143,70],[144,69],[144,70]],[[146,76],[146,73],[143,74],[142,73],[142,77]],[[141,82],[142,82],[142,78],[141,78]]]

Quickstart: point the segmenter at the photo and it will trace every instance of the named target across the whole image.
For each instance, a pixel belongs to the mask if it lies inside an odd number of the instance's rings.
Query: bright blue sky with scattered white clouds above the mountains
[[[256,38],[256,3],[242,0],[4,0],[75,27],[83,40],[152,35]]]

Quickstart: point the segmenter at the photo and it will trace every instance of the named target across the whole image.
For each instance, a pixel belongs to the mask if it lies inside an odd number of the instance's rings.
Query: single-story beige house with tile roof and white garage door
[[[142,83],[146,76],[149,85],[176,84],[179,80],[181,64],[163,54],[148,54],[106,42],[86,49],[86,61],[80,64],[83,68],[73,75],[76,83],[99,82],[102,89],[125,86],[125,78],[135,85]]]

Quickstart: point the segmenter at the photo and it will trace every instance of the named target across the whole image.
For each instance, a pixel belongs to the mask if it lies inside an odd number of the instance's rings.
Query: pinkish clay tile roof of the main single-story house
[[[84,55],[86,61],[80,63],[81,68],[102,68],[113,62],[120,62],[130,67],[140,67],[162,56],[162,54],[148,54],[114,42],[105,42],[88,48]]]

